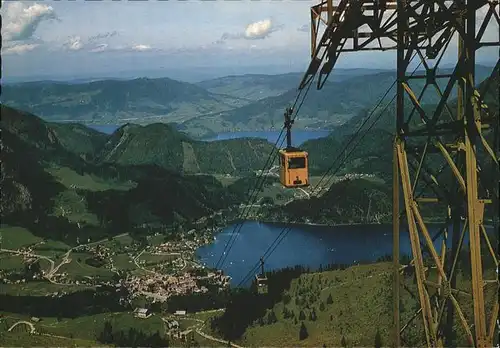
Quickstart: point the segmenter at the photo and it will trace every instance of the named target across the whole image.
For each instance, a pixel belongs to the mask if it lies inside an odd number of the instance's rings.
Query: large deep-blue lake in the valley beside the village
[[[202,263],[210,267],[216,266],[234,226],[224,228],[217,235],[214,243],[197,250],[196,254]],[[242,225],[221,267],[225,274],[232,277],[233,285],[237,285],[248,274],[285,227],[287,227],[285,224],[254,221],[247,221]],[[392,255],[391,225],[334,227],[292,225],[290,227],[283,241],[269,258],[266,258],[266,269],[280,269],[295,265],[317,269],[320,265],[376,261],[381,256]],[[431,237],[439,230],[437,225],[430,225],[429,228]],[[448,247],[451,247],[451,233],[448,236]],[[435,241],[436,248],[440,246],[441,240],[438,238]],[[467,235],[464,243],[468,243]],[[401,231],[400,250],[401,254],[411,254],[407,230]]]

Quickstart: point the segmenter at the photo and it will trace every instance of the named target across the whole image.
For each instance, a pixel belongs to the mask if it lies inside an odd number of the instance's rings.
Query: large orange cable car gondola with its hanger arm
[[[309,186],[308,154],[292,147],[292,112],[291,108],[285,111],[287,146],[279,151],[280,182],[288,188]]]

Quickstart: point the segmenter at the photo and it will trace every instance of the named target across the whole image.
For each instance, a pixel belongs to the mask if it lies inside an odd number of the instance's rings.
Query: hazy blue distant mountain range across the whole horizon
[[[490,67],[478,66],[477,80],[486,78],[490,71]],[[27,82],[4,86],[0,99],[5,105],[48,121],[117,125],[163,122],[190,136],[203,137],[281,128],[283,111],[295,100],[301,77],[301,73],[253,74],[196,84],[169,78]],[[309,90],[295,128],[331,129],[347,122],[371,109],[394,78],[395,72],[386,70],[334,71],[322,90]],[[411,81],[410,85],[418,92],[423,82]],[[440,85],[444,88],[444,82]],[[431,98],[423,102],[435,103],[436,93],[429,95]]]

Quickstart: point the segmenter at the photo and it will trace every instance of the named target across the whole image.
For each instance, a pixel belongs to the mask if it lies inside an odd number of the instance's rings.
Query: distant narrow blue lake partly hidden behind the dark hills
[[[101,133],[112,134],[120,126],[118,125],[88,125],[89,128],[95,129]],[[270,143],[276,143],[280,131],[254,131],[254,132],[227,132],[219,133],[215,136],[204,138],[203,141],[217,141],[217,140],[227,140],[227,139],[238,139],[238,138],[261,138],[266,139]],[[296,130],[292,131],[292,145],[300,146],[307,140],[324,138],[330,134],[330,131],[307,131],[307,130]],[[284,138],[284,135],[281,139]]]

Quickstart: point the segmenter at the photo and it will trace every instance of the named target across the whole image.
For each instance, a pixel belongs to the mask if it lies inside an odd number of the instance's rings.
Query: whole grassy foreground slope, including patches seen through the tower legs
[[[353,266],[346,270],[328,271],[302,275],[292,281],[284,299],[273,307],[278,321],[263,324],[258,321],[248,328],[241,340],[246,346],[307,346],[340,347],[342,337],[347,346],[373,346],[377,330],[382,337],[383,346],[392,344],[392,275],[391,263],[376,263],[371,265]],[[493,272],[488,276],[491,278]],[[429,276],[435,281],[435,274]],[[468,280],[469,279],[469,280]],[[470,290],[470,276],[457,277],[458,288]],[[403,283],[409,291],[401,288],[400,318],[404,325],[419,308],[416,284],[411,277],[403,277]],[[491,308],[495,301],[495,289],[487,292],[486,302]],[[413,295],[412,295],[413,294]],[[332,302],[328,303],[331,295]],[[290,300],[288,301],[288,298]],[[460,297],[459,302],[466,318],[471,318],[472,302],[467,297]],[[283,309],[293,311],[293,316],[284,318]],[[323,310],[321,309],[323,308]],[[309,314],[315,311],[316,320],[311,320]],[[299,320],[303,311],[304,320]],[[491,312],[488,312],[488,317]],[[295,320],[295,318],[297,320]],[[456,345],[469,346],[464,331],[455,316],[454,328],[457,333]],[[309,337],[299,339],[301,323],[304,322]],[[403,340],[406,346],[422,346],[425,335],[418,317],[414,325],[405,330]]]

